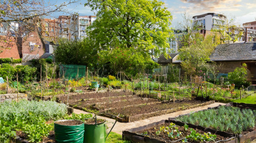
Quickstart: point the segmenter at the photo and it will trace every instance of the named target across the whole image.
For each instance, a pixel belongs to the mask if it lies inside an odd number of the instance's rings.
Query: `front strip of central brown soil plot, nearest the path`
[[[180,110],[195,108],[214,103],[214,101],[180,101],[179,103],[157,103],[157,104],[143,104],[139,106],[129,106],[123,108],[116,108],[101,113],[101,116],[113,118],[112,115],[120,114],[119,122],[133,122],[145,118],[168,114]],[[112,115],[110,115],[112,114]],[[114,117],[115,118],[115,117]]]

